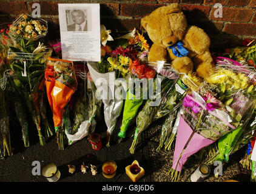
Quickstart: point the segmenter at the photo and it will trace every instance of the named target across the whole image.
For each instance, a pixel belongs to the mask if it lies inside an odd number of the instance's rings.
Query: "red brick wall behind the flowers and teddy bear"
[[[189,25],[204,29],[212,41],[212,49],[231,47],[243,38],[256,38],[256,0],[66,0],[66,1],[0,1],[0,24],[12,21],[19,13],[32,13],[32,4],[41,5],[41,18],[49,21],[50,38],[59,38],[58,3],[99,3],[101,24],[112,35],[140,28],[140,19],[155,8],[178,2]],[[214,4],[223,5],[223,18],[215,18]]]

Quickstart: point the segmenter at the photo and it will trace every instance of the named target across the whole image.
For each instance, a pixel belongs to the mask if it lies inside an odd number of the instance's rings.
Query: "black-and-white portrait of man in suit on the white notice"
[[[87,9],[73,8],[66,10],[67,31],[89,31]]]

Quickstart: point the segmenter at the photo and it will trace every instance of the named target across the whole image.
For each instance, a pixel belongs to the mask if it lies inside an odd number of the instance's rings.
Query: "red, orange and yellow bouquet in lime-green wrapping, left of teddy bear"
[[[138,82],[147,81],[146,79],[153,79],[155,78],[156,73],[155,70],[146,64],[146,58],[149,53],[149,44],[147,44],[143,34],[140,34],[138,30],[134,29],[133,32],[117,39],[123,39],[123,45],[114,50],[112,53],[113,57],[108,58],[108,60],[113,61],[113,59],[118,59],[118,61],[121,62],[121,65],[124,64],[122,61],[127,60],[124,67],[121,67],[121,69],[119,68],[119,70],[123,73],[123,76],[126,76],[126,74],[129,73],[129,76],[131,76],[133,80],[135,78],[135,85],[129,85],[129,89],[127,89],[126,93],[123,120],[120,132],[118,133],[118,137],[121,141],[121,139],[126,137],[126,131],[130,122],[135,118],[144,102],[143,93],[145,93],[145,91],[141,88],[141,85],[140,83],[138,84]],[[120,65],[112,63],[112,67],[118,69]],[[139,95],[136,96],[135,93],[139,93]]]

